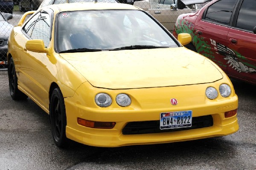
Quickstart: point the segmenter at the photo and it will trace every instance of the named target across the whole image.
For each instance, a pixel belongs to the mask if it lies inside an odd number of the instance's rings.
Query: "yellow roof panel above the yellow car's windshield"
[[[51,8],[62,11],[80,11],[80,10],[99,10],[99,9],[139,9],[124,3],[95,3],[95,2],[78,2],[78,3],[63,3],[45,6],[44,8]]]

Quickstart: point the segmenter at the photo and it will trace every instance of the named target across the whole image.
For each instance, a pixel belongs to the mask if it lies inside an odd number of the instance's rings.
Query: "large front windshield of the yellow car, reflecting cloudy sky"
[[[138,10],[61,12],[55,35],[58,52],[178,46],[158,23]]]

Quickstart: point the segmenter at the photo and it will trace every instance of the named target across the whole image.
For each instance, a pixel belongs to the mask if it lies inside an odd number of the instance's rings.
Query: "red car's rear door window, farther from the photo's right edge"
[[[219,0],[207,9],[204,20],[229,25],[237,0]]]

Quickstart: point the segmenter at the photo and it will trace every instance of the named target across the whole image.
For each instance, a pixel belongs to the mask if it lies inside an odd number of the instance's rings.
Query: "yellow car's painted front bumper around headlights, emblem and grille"
[[[133,102],[129,107],[119,107],[113,101],[113,106],[111,105],[107,108],[97,107],[94,101],[83,101],[81,97],[83,94],[82,90],[86,89],[84,86],[84,88],[79,88],[73,97],[64,99],[67,114],[67,138],[91,146],[120,147],[187,141],[235,133],[239,129],[236,115],[225,118],[224,112],[238,108],[236,94],[233,92],[228,98],[219,96],[215,100],[209,100],[205,98],[204,92],[202,95],[197,93],[202,91],[202,89],[206,89],[207,86],[207,84],[192,85],[189,86],[189,89],[188,86],[127,90],[94,88],[96,90],[95,94],[104,90],[112,95],[112,99],[116,94],[124,92],[130,95]],[[87,93],[87,98],[93,98],[95,94]],[[172,106],[169,103],[170,96],[177,98],[179,104]],[[184,110],[192,110],[193,118],[211,115],[213,125],[175,132],[134,135],[124,135],[122,133],[123,128],[128,122],[157,121],[160,119],[161,112]],[[77,118],[91,121],[116,122],[116,125],[113,129],[93,129],[79,125]]]

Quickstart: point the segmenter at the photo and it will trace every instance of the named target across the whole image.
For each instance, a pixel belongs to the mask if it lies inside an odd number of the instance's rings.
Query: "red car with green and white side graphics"
[[[214,61],[231,78],[256,84],[256,0],[212,0],[177,18],[173,35],[189,33],[186,47]]]

